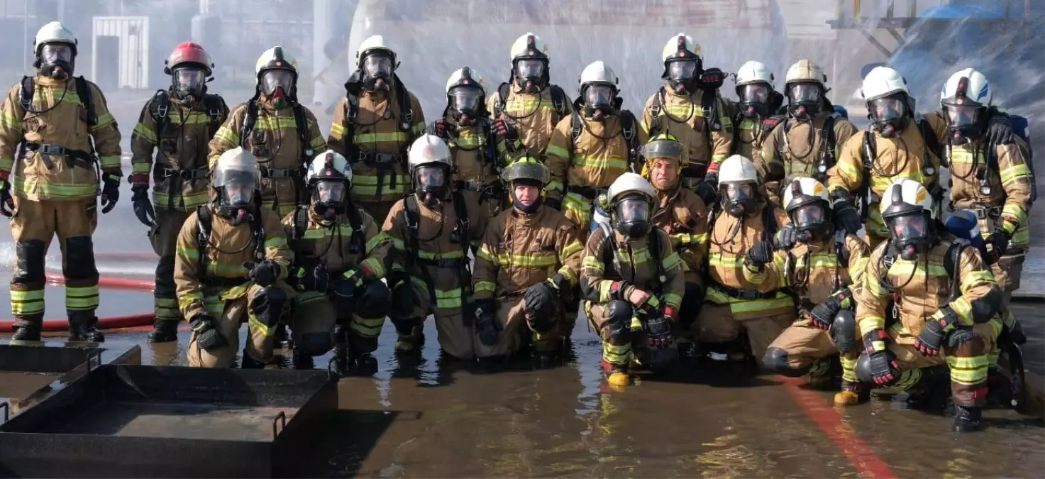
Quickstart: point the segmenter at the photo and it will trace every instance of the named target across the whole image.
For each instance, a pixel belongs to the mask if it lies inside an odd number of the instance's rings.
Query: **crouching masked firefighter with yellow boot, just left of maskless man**
[[[601,201],[612,228],[600,223],[589,235],[580,284],[607,382],[623,387],[632,360],[659,370],[677,358],[673,328],[686,286],[671,238],[650,221],[657,195],[649,182],[625,173]]]

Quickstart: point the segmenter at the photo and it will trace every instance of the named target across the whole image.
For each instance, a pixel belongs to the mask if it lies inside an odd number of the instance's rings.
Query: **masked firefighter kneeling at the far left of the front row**
[[[291,250],[279,216],[260,206],[257,159],[237,146],[212,172],[210,202],[185,221],[176,246],[178,305],[192,329],[188,363],[231,367],[246,321],[242,367],[265,367],[294,294],[284,282]]]

